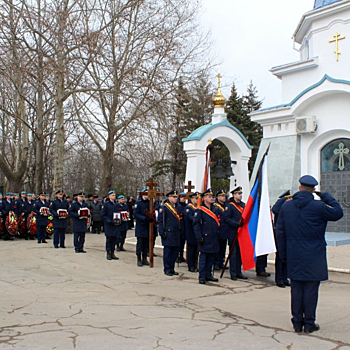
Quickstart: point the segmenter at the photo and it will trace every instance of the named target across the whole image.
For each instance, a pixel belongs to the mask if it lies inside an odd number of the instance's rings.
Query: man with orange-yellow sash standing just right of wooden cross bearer
[[[179,252],[182,220],[177,208],[177,191],[173,190],[166,194],[167,200],[159,209],[158,230],[162,237],[164,274],[177,276],[175,262]]]

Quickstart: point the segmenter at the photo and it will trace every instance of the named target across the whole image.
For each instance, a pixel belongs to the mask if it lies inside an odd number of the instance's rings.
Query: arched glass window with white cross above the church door
[[[350,171],[350,139],[336,139],[321,150],[322,173]]]

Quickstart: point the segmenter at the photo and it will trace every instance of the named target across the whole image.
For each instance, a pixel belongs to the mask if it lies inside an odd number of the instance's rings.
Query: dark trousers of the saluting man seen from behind
[[[319,281],[291,281],[292,323],[295,328],[315,326]]]

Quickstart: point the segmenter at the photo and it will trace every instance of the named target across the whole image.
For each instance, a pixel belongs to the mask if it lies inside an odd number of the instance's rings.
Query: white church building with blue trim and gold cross
[[[301,175],[315,176],[344,209],[328,231],[350,232],[350,0],[316,0],[293,40],[300,60],[271,69],[282,81],[282,104],[251,114],[263,127],[256,167],[270,145],[272,204],[296,192]]]

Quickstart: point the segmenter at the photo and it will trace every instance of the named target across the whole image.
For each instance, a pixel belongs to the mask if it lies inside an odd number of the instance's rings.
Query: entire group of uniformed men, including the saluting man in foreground
[[[45,192],[38,196],[8,192],[5,198],[0,194],[1,235],[4,240],[36,238],[38,244],[45,244],[53,234],[53,247],[64,249],[66,232],[70,232],[75,253],[86,253],[85,235],[92,229],[92,233],[105,234],[107,260],[118,260],[115,251],[126,251],[127,231],[134,228],[135,220],[138,267],[152,267],[159,235],[166,276],[179,275],[176,264],[179,268],[186,263],[189,272],[198,273],[200,284],[217,283],[215,271],[223,273],[229,262],[231,280],[246,280],[237,239],[244,225],[242,187],[234,188],[230,198],[224,190],[214,194],[210,188],[202,193],[172,190],[160,204],[151,180],[136,202],[113,190],[103,199],[89,195],[87,201],[83,191],[71,200],[62,189],[52,201]],[[339,220],[343,211],[331,195],[315,191],[318,182],[312,176],[305,175],[299,182],[297,193],[285,191],[271,209],[277,246],[275,283],[280,288],[291,287],[295,332],[312,333],[320,329],[315,323],[320,281],[328,279],[326,225]],[[266,266],[267,255],[256,257],[257,276],[270,276]]]

